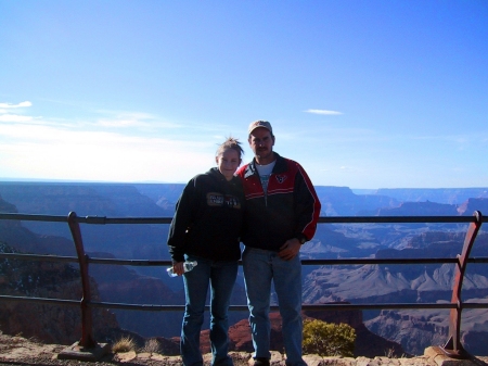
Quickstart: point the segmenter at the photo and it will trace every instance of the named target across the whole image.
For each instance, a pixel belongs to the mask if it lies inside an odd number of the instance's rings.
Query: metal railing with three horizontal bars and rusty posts
[[[81,339],[78,342],[84,349],[97,348],[98,343],[93,339],[92,332],[92,313],[93,307],[119,308],[119,310],[139,310],[139,311],[181,311],[183,305],[154,305],[154,304],[127,304],[111,302],[94,302],[91,298],[89,286],[89,264],[105,265],[129,265],[129,266],[168,266],[170,261],[150,261],[150,260],[116,260],[116,258],[95,258],[87,255],[82,242],[81,229],[79,224],[111,225],[111,224],[170,224],[170,217],[101,217],[85,216],[79,217],[70,212],[67,216],[52,215],[30,215],[30,214],[9,214],[0,213],[0,219],[5,220],[29,220],[29,222],[50,222],[67,223],[77,256],[59,255],[36,255],[20,253],[0,253],[0,257],[23,260],[23,261],[51,261],[64,263],[78,263],[81,275],[82,298],[80,301],[48,299],[48,298],[26,298],[0,295],[0,301],[15,301],[29,303],[43,303],[56,305],[76,305],[81,308]],[[394,223],[437,223],[437,224],[468,224],[465,234],[464,244],[461,254],[455,258],[334,258],[334,260],[303,260],[303,265],[361,265],[361,264],[455,264],[454,281],[452,287],[452,296],[449,303],[382,303],[382,304],[304,304],[304,310],[310,311],[330,311],[330,310],[383,310],[383,308],[450,308],[449,316],[449,336],[444,352],[454,358],[467,358],[468,355],[461,344],[461,314],[463,308],[486,308],[486,303],[464,303],[461,299],[461,290],[468,263],[488,263],[488,257],[470,257],[471,250],[476,236],[483,223],[488,222],[483,217],[479,211],[473,216],[335,216],[320,217],[320,224],[394,224]],[[207,306],[208,310],[208,306]],[[247,311],[247,305],[231,305],[230,311]],[[271,306],[271,310],[278,310],[278,306]]]

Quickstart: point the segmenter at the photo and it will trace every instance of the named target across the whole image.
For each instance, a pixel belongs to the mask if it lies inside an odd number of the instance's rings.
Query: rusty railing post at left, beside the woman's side
[[[76,254],[78,255],[79,270],[81,273],[81,340],[79,346],[86,349],[93,349],[97,346],[97,342],[93,340],[93,321],[91,308],[88,304],[91,301],[90,291],[90,278],[88,277],[88,256],[85,253],[84,242],[81,239],[81,230],[79,224],[76,222],[76,213],[70,212],[68,214],[68,226],[72,231],[73,241],[75,242]]]

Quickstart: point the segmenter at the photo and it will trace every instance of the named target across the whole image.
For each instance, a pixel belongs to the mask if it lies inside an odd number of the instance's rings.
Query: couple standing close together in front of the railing
[[[174,270],[184,281],[180,351],[185,366],[203,365],[200,331],[208,285],[211,365],[232,366],[228,308],[241,241],[254,365],[269,365],[271,282],[283,321],[286,365],[306,365],[299,250],[316,232],[320,202],[304,168],[273,151],[274,140],[269,122],[253,122],[248,128],[253,161],[239,168],[243,150],[236,139],[227,139],[217,150],[217,167],[190,180],[177,203],[168,245]],[[198,265],[183,274],[184,261]]]

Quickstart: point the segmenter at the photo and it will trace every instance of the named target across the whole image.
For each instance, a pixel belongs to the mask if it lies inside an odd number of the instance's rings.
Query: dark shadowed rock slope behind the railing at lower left
[[[1,243],[0,252],[16,252]],[[99,299],[97,285],[90,283],[93,300]],[[79,272],[73,266],[52,262],[25,262],[0,258],[0,291],[3,295],[77,300],[82,296]],[[9,335],[22,333],[44,342],[72,344],[81,337],[81,312],[78,306],[0,302],[0,329]],[[110,338],[118,328],[106,310],[93,310],[93,335]]]

